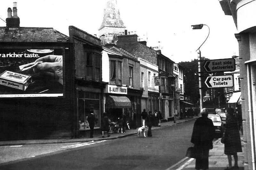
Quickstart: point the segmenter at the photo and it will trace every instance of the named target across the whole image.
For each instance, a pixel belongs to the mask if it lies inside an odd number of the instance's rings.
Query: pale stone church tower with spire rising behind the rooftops
[[[116,44],[117,35],[124,34],[125,28],[126,26],[124,26],[124,22],[120,17],[116,0],[107,0],[104,18],[99,28],[102,44]]]

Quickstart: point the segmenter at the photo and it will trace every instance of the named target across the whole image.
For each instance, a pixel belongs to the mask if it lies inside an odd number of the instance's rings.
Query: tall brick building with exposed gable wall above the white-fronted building
[[[161,111],[162,117],[165,120],[173,119],[174,115],[174,93],[173,86],[175,85],[175,77],[173,76],[173,64],[174,62],[168,57],[161,54],[161,50],[154,50],[145,45],[145,41],[142,43],[137,41],[138,36],[119,35],[116,47],[123,48],[132,55],[142,58],[149,63],[158,66],[158,80],[159,84],[159,110]],[[148,98],[154,99],[156,94],[148,93]]]

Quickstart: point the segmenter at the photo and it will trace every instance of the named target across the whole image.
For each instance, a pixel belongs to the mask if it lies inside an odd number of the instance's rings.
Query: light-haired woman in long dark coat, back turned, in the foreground
[[[209,168],[209,150],[213,148],[215,130],[212,120],[207,117],[208,113],[206,108],[201,110],[201,117],[196,119],[192,132],[191,143],[194,144],[197,153],[196,169]]]

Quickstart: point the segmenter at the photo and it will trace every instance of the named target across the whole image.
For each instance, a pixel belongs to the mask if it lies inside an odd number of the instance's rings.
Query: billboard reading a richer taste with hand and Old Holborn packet
[[[0,49],[0,98],[63,96],[62,49]]]

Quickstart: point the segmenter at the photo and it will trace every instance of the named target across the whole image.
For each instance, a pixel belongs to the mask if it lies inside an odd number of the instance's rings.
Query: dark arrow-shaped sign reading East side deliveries
[[[203,67],[206,72],[235,71],[236,62],[234,58],[206,60]]]

